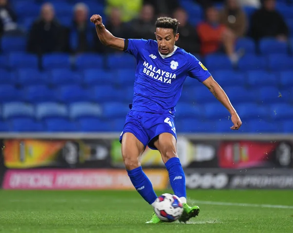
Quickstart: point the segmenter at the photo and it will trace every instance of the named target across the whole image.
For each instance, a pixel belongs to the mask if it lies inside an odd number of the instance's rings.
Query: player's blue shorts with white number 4
[[[120,135],[120,143],[125,133],[134,134],[145,147],[147,145],[153,150],[157,150],[154,141],[162,133],[170,133],[177,140],[174,115],[171,113],[157,114],[130,110]]]

